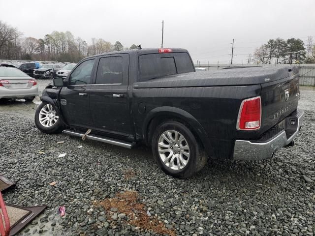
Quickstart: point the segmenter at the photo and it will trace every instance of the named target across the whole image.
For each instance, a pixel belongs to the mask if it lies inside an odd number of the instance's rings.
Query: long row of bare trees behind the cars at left
[[[119,41],[115,44],[102,38],[92,38],[91,41],[88,44],[69,31],[53,31],[39,39],[23,37],[17,28],[0,21],[0,59],[78,62],[88,56],[128,49]],[[129,49],[136,47],[132,44]]]

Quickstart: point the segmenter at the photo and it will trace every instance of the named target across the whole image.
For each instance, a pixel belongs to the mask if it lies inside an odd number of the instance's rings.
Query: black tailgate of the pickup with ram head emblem
[[[299,73],[288,68],[289,77],[261,85],[261,131],[264,132],[297,109],[300,98]]]

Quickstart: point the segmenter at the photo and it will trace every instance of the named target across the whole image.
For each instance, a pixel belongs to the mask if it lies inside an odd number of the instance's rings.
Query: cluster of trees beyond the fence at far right
[[[299,38],[269,39],[254,51],[254,61],[257,64],[279,63],[315,63],[315,46],[308,57],[304,42]]]

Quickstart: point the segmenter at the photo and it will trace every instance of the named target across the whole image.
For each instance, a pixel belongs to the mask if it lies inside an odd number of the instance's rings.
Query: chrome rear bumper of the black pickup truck
[[[285,130],[282,130],[266,142],[236,140],[233,154],[234,160],[270,159],[276,150],[291,143],[301,129],[304,111],[296,110],[293,116],[289,116],[286,119],[297,119],[296,130],[294,130],[292,135],[287,137]]]

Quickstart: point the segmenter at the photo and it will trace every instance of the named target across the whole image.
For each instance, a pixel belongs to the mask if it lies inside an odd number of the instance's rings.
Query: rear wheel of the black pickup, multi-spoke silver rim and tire
[[[207,154],[192,132],[178,121],[166,121],[152,137],[152,151],[159,167],[168,175],[188,178],[200,171]]]

